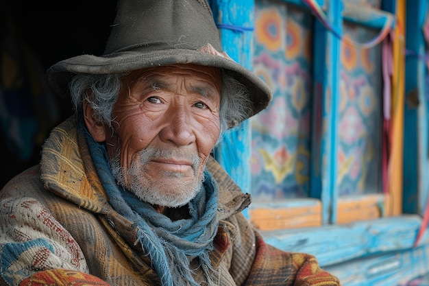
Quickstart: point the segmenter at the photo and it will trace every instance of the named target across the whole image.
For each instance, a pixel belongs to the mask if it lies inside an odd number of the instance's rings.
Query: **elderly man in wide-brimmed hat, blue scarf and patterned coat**
[[[121,1],[103,56],[53,65],[75,115],[0,192],[1,285],[339,285],[264,243],[210,156],[271,93],[206,1]]]

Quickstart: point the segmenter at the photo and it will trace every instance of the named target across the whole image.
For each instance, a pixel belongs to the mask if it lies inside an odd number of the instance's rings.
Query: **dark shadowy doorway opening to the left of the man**
[[[66,97],[40,93],[44,73],[66,58],[101,55],[115,8],[114,0],[0,0],[0,188],[39,162],[49,130],[72,114]]]

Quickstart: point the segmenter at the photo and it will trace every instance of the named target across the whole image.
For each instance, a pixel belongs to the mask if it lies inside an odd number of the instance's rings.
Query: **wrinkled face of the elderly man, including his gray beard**
[[[133,71],[106,130],[112,171],[126,189],[159,206],[198,193],[220,133],[219,69],[190,64]]]

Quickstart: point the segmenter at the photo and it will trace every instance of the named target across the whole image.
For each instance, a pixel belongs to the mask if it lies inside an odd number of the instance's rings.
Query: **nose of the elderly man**
[[[184,108],[171,110],[165,115],[164,128],[160,131],[160,139],[172,142],[177,146],[195,142],[193,118]]]

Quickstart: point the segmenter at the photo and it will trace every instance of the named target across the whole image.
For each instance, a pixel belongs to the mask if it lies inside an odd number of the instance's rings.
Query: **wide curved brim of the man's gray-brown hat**
[[[201,66],[219,67],[232,78],[247,86],[253,110],[248,117],[267,108],[271,102],[269,86],[249,69],[225,58],[193,49],[167,49],[145,51],[121,51],[103,56],[81,55],[54,64],[47,71],[47,80],[53,92],[66,94],[70,77],[75,73],[108,74],[124,73],[148,67],[160,67],[169,64],[199,64]],[[248,118],[247,117],[247,118]]]

